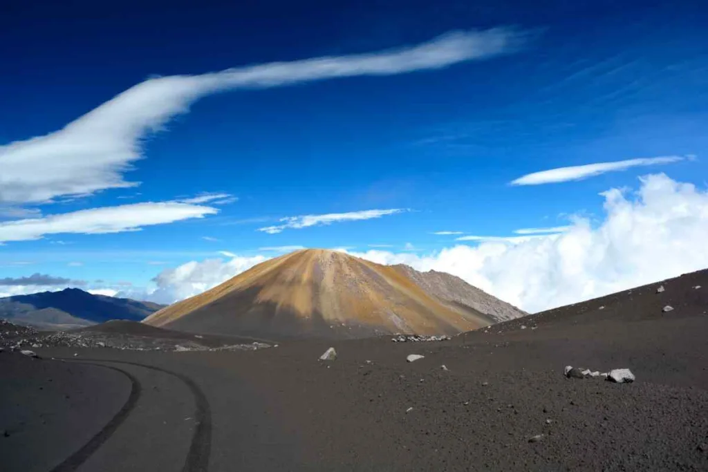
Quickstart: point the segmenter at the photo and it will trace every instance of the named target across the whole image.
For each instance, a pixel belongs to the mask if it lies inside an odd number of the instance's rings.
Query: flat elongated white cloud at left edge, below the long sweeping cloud
[[[1,241],[28,241],[46,234],[105,234],[139,231],[143,226],[215,214],[212,207],[178,202],[144,202],[84,209],[42,218],[0,222]]]

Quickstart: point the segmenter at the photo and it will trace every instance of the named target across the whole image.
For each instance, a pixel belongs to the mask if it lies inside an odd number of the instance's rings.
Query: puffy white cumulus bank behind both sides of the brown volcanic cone
[[[641,178],[636,192],[612,189],[600,197],[604,215],[595,227],[576,217],[564,232],[525,241],[478,241],[427,255],[381,250],[350,254],[381,264],[449,272],[531,312],[708,267],[706,190],[658,174]],[[193,262],[158,278],[162,293],[174,294],[169,301],[175,301],[262,260]]]

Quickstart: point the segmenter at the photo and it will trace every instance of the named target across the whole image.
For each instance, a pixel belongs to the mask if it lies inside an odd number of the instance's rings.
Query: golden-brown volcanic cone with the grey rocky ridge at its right
[[[144,323],[273,339],[360,338],[454,335],[524,314],[488,294],[470,306],[474,287],[444,278],[336,251],[296,251],[162,309]]]

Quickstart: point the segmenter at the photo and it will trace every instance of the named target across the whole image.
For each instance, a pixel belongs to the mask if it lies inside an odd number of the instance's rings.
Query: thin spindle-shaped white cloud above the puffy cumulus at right
[[[511,185],[542,185],[544,183],[568,182],[594,177],[605,172],[624,171],[636,166],[657,166],[687,159],[683,156],[651,157],[646,159],[629,159],[627,161],[600,162],[585,166],[572,166],[534,172],[513,180]]]

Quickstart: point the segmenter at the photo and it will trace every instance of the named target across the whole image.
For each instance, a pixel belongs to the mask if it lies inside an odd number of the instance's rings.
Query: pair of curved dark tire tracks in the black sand
[[[103,364],[103,362],[115,363],[115,364],[128,364],[137,367],[143,367],[144,369],[151,369],[157,372],[162,372],[163,374],[168,374],[176,377],[183,382],[189,388],[190,392],[194,396],[195,403],[195,429],[192,434],[192,442],[187,453],[187,457],[182,468],[182,472],[207,472],[209,467],[209,456],[212,445],[212,413],[209,402],[204,392],[201,388],[184,374],[179,374],[178,372],[172,372],[170,370],[161,369],[160,367],[155,367],[149,364],[140,364],[139,362],[128,362],[128,361],[118,361],[111,359],[72,359],[72,358],[62,358],[57,357],[57,359],[70,361],[70,362],[81,362],[84,364],[97,365],[101,367],[106,367],[108,369],[113,369],[115,371],[121,372],[128,376],[132,381],[133,388],[130,391],[130,396],[128,401],[123,405],[118,414],[116,414],[113,419],[108,422],[108,425],[103,427],[103,430],[99,431],[96,436],[92,437],[88,443],[81,447],[79,451],[76,451],[72,456],[69,456],[62,464],[52,469],[51,472],[70,472],[76,470],[89,456],[98,449],[104,442],[108,441],[110,436],[118,429],[118,426],[130,415],[130,412],[135,408],[137,399],[140,396],[141,386],[137,379],[135,379],[132,374],[125,372],[118,367],[111,367],[109,365]],[[137,391],[136,391],[137,390]],[[134,398],[135,393],[135,398]]]

